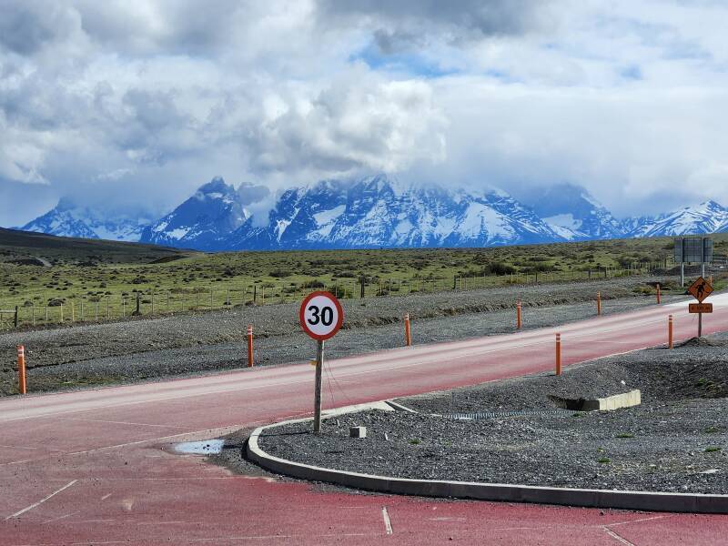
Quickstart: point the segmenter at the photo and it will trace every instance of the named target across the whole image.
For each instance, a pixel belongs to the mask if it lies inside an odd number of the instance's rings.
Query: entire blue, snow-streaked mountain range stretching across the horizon
[[[728,231],[714,201],[658,217],[617,220],[583,188],[561,185],[529,196],[405,185],[379,174],[291,187],[229,186],[221,177],[154,223],[62,199],[22,229],[81,238],[141,241],[199,250],[493,247]],[[254,221],[252,210],[258,221]],[[267,212],[267,217],[266,217]]]

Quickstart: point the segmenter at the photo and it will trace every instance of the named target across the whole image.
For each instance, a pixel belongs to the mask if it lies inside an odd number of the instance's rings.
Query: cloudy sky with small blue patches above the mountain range
[[[0,225],[387,171],[728,205],[728,5],[0,0]],[[21,204],[21,205],[19,205]]]

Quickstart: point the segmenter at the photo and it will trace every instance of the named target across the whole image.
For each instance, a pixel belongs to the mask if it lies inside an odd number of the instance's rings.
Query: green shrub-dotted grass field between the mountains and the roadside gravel
[[[728,253],[728,234],[715,236]],[[43,265],[45,264],[45,265]],[[50,265],[51,267],[47,267]],[[672,238],[501,248],[204,254],[0,229],[0,309],[28,324],[293,301],[602,278],[672,266]],[[47,314],[47,315],[46,315]],[[5,314],[0,328],[11,319]]]

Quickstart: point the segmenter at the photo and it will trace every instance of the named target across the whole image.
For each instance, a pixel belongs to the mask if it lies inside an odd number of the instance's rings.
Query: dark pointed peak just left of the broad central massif
[[[224,250],[226,237],[248,220],[236,189],[215,177],[167,216],[148,226],[141,242],[167,247]]]

